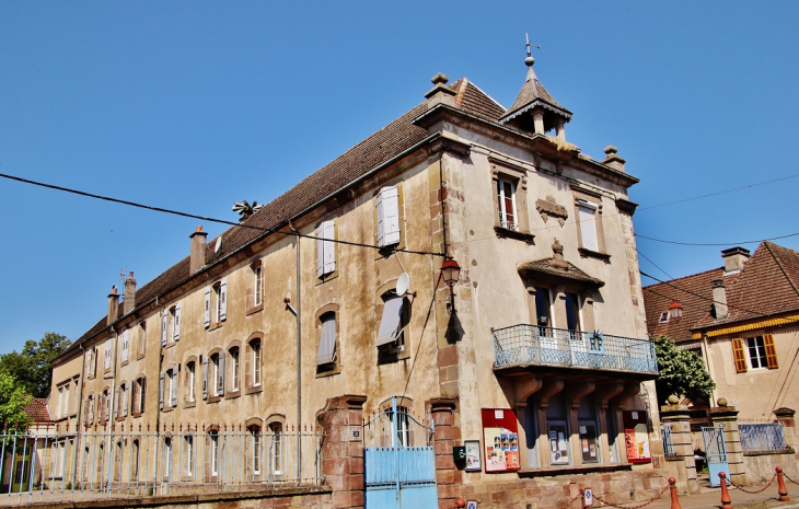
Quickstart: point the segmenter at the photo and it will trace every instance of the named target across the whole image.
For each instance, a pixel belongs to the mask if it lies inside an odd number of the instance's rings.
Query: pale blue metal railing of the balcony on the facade
[[[494,369],[530,366],[658,374],[648,339],[528,324],[494,329]]]

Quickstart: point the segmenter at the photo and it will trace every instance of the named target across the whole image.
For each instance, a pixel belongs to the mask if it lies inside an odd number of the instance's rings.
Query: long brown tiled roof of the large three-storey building
[[[505,109],[497,102],[470,83],[466,78],[455,81],[450,88],[456,92],[456,99],[459,100],[456,106],[468,114],[496,123],[499,116],[505,113]],[[208,242],[206,246],[207,265],[211,265],[264,236],[267,234],[264,229],[279,227],[288,219],[366,175],[381,163],[391,160],[424,140],[428,136],[427,129],[414,125],[413,120],[425,112],[427,112],[426,102],[405,113],[265,205],[246,219],[242,223],[243,225],[235,225],[224,231],[221,234],[222,244],[219,252],[215,250],[216,239]],[[137,289],[137,306],[164,294],[189,277],[189,257],[186,256],[155,279]],[[123,306],[119,305],[120,315],[121,309]],[[106,317],[104,316],[62,355],[74,351],[79,345],[101,333],[106,328],[105,323]]]

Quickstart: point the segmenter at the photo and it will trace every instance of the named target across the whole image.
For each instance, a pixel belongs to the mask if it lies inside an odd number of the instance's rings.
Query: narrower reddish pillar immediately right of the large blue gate
[[[436,479],[438,482],[438,507],[455,507],[461,496],[463,473],[455,466],[452,448],[461,446],[461,428],[455,426],[456,401],[440,397],[427,402],[427,410],[436,424]]]

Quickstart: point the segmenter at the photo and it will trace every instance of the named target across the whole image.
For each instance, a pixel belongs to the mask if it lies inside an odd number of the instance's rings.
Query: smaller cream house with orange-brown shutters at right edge
[[[799,406],[799,253],[763,242],[721,252],[723,266],[644,288],[651,336],[669,336],[700,356],[725,397],[744,420],[773,420]],[[679,317],[680,312],[682,317]]]

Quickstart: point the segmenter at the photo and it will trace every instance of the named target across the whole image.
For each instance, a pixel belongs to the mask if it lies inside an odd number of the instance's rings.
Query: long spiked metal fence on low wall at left
[[[271,425],[0,435],[0,505],[311,486],[321,433]]]

